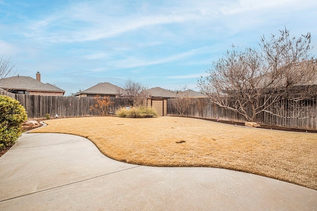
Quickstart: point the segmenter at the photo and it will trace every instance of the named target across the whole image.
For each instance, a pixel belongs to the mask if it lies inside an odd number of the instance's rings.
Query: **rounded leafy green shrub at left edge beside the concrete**
[[[0,95],[0,150],[13,145],[21,136],[26,119],[25,108],[17,100]]]

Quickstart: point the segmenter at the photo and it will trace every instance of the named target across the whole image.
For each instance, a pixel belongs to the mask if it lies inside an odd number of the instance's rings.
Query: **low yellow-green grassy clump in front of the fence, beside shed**
[[[123,118],[149,118],[158,116],[153,108],[144,106],[131,107],[130,109],[120,107],[115,111],[115,114]]]

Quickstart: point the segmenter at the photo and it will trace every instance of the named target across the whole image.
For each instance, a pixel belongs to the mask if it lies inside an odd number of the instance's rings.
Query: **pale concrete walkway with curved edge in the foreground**
[[[317,191],[225,169],[122,163],[82,137],[32,133],[0,158],[0,210],[317,210]]]

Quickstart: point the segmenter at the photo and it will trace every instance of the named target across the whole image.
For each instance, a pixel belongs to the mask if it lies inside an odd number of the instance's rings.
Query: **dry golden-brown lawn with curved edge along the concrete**
[[[83,117],[45,121],[37,133],[88,138],[107,157],[151,166],[205,166],[317,190],[317,134],[238,127],[201,119]],[[177,143],[182,142],[183,143]]]

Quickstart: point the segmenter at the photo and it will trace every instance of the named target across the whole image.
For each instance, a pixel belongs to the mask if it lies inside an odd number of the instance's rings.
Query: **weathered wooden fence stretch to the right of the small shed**
[[[317,99],[312,99],[308,101],[307,105],[309,109],[312,110],[315,115],[314,117],[308,118],[283,118],[276,115],[272,115],[267,112],[263,112],[256,117],[256,122],[260,124],[275,125],[282,127],[293,127],[308,130],[317,130]],[[285,110],[285,113],[290,112]],[[167,114],[169,115],[180,115],[177,109],[173,106],[170,99],[167,101]],[[191,105],[186,109],[184,116],[195,117],[195,118],[206,118],[206,119],[216,119],[219,117],[220,120],[226,121],[237,121],[244,122],[245,118],[226,108],[217,106],[211,103],[208,98],[192,98]]]

